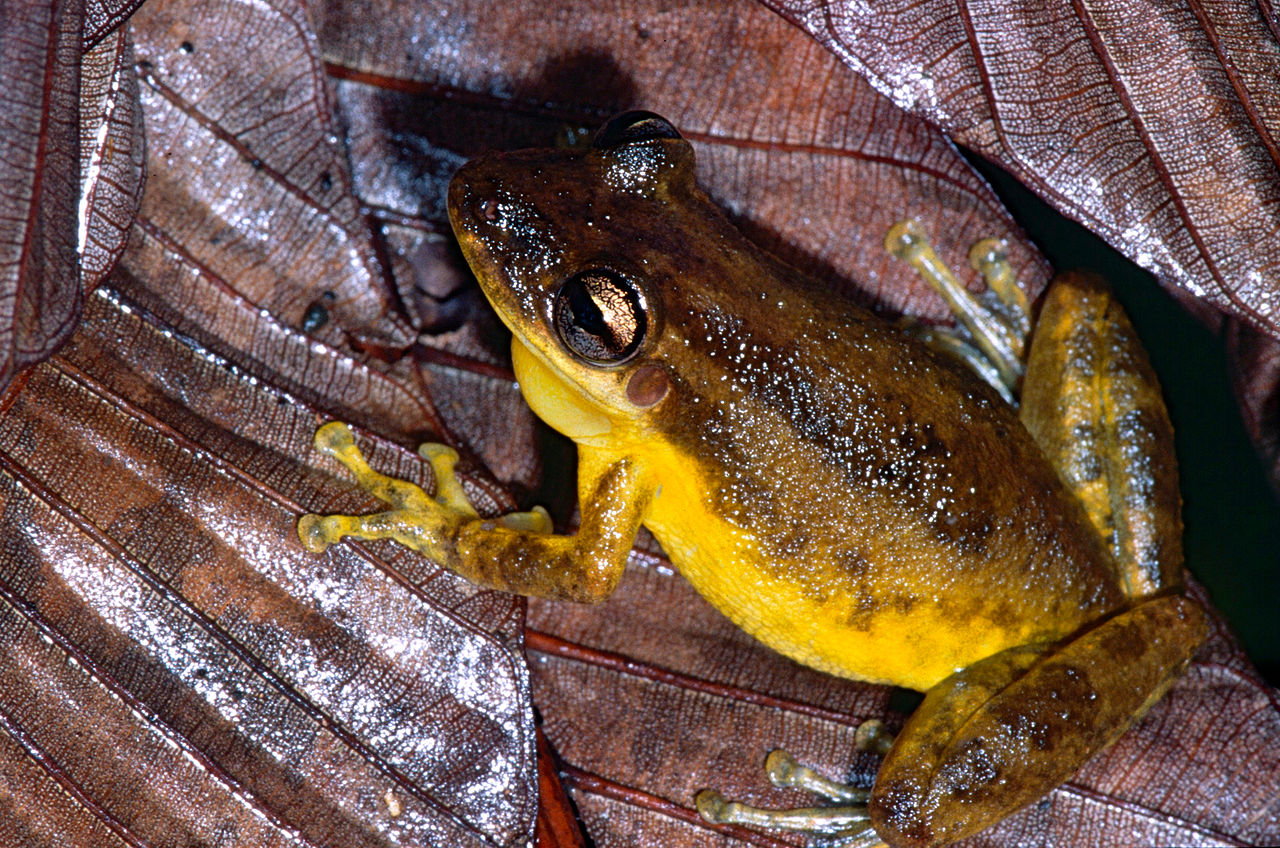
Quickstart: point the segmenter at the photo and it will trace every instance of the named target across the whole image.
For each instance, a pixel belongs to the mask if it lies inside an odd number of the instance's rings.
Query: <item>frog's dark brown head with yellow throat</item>
[[[710,208],[692,170],[675,127],[632,111],[588,150],[484,155],[449,186],[453,231],[511,328],[525,397],[579,442],[608,443],[671,388],[654,354],[689,254],[684,210]]]

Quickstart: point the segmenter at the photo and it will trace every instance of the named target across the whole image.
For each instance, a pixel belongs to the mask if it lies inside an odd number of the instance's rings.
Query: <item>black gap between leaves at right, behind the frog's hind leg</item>
[[[1151,357],[1174,421],[1187,567],[1272,684],[1280,684],[1280,503],[1231,395],[1222,339],[1181,309],[1151,274],[1070,222],[1021,183],[966,151],[974,168],[1055,268],[1108,281]]]

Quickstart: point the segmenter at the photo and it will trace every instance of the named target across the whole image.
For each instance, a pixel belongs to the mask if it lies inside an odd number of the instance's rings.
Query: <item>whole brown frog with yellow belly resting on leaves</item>
[[[869,790],[774,752],[776,783],[831,806],[708,789],[708,821],[956,842],[1068,780],[1203,642],[1169,416],[1096,278],[1059,275],[1028,345],[998,243],[978,251],[984,300],[906,220],[888,249],[960,324],[887,320],[756,247],[699,187],[691,143],[645,111],[585,149],[470,160],[448,211],[524,397],[576,443],[579,526],[479,515],[444,446],[420,448],[434,494],[385,477],[329,423],[316,447],[390,509],[308,514],[298,535],[317,552],[390,538],[484,587],[598,603],[643,525],[772,649],[924,693],[899,733],[859,730],[883,754]]]

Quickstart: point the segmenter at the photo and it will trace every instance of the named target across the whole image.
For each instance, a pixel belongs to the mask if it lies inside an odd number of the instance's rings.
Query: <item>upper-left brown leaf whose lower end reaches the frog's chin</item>
[[[494,343],[463,328],[401,355],[412,329],[352,195],[305,8],[151,4],[132,26],[150,173],[125,257],[132,295],[260,378],[404,444],[461,446],[454,432],[506,410],[509,428],[471,448],[527,485],[532,415]],[[393,265],[449,268],[415,259]]]

